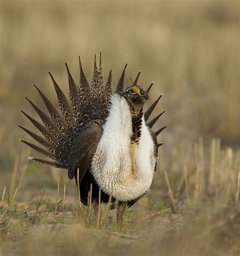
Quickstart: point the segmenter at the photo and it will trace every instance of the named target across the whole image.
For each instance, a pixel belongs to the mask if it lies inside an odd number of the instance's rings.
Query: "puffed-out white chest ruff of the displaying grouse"
[[[131,145],[131,135],[129,106],[123,97],[113,95],[91,172],[101,189],[120,201],[136,199],[149,189],[156,164],[154,143],[144,118],[138,145]]]

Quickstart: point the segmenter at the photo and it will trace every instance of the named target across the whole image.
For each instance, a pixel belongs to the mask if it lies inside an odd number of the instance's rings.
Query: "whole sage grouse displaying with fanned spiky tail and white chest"
[[[157,164],[157,149],[163,144],[157,144],[156,136],[166,127],[155,133],[151,130],[164,112],[148,121],[163,94],[143,113],[143,105],[149,99],[148,92],[153,83],[146,91],[143,90],[137,85],[139,72],[133,84],[124,89],[126,67],[113,91],[111,70],[106,83],[103,82],[101,55],[99,69],[95,56],[91,86],[83,72],[80,58],[78,86],[66,65],[69,101],[49,73],[59,108],[35,86],[49,115],[26,99],[44,125],[22,111],[44,137],[20,126],[46,149],[25,140],[20,141],[52,160],[35,157],[29,159],[67,169],[69,179],[75,178],[76,182],[78,169],[82,203],[88,204],[91,186],[92,203],[98,204],[99,191],[103,203],[108,202],[111,195],[112,202],[115,202],[111,208],[117,205],[118,224],[122,224],[126,207],[137,202],[151,186]]]

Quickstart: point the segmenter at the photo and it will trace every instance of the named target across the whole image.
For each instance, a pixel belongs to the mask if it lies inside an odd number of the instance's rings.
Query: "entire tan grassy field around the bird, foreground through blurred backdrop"
[[[0,33],[0,255],[240,253],[239,2],[2,1]],[[66,91],[64,62],[77,78],[80,54],[90,78],[100,51],[105,77],[128,62],[165,94],[158,170],[122,230],[17,142],[24,95],[43,106],[31,85],[56,101],[48,71]]]

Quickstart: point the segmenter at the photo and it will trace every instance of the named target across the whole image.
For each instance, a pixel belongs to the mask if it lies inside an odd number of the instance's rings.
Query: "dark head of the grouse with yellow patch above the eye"
[[[130,105],[143,106],[146,100],[149,100],[147,92],[139,85],[132,85],[126,88],[122,93],[122,97],[126,99]]]

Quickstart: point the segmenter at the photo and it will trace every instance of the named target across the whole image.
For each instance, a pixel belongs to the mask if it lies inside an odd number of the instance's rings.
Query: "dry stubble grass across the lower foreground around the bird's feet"
[[[203,150],[199,139],[174,148],[168,157],[163,149],[151,190],[126,212],[121,230],[109,204],[101,217],[90,205],[79,208],[76,193],[68,195],[62,182],[57,182],[52,197],[44,198],[45,190],[41,199],[39,194],[38,203],[25,195],[16,197],[17,188],[13,196],[4,188],[5,196],[0,195],[3,252],[14,247],[31,255],[39,247],[39,254],[70,255],[239,253],[240,151],[222,149],[219,139],[211,145],[211,150]]]

